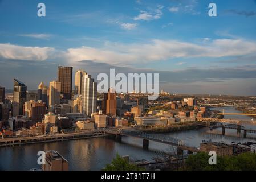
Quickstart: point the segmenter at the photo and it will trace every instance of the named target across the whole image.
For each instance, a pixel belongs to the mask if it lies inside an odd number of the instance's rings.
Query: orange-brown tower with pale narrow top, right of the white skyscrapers
[[[108,89],[104,94],[105,114],[116,116],[116,92],[113,88]]]

